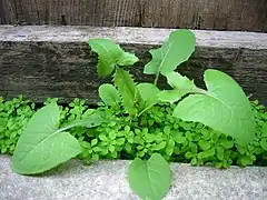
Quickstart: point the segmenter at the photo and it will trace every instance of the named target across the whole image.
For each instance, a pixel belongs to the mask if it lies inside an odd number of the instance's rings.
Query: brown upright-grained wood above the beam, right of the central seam
[[[266,0],[146,0],[142,27],[267,31]]]

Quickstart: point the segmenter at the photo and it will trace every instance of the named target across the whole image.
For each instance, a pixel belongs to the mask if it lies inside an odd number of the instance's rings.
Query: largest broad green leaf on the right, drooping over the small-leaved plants
[[[204,76],[208,91],[190,94],[178,103],[174,116],[201,122],[248,143],[255,137],[255,119],[248,98],[228,74],[208,69]]]

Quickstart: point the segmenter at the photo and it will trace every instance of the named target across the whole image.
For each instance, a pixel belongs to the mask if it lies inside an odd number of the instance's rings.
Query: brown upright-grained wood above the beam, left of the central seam
[[[136,0],[12,0],[21,24],[136,26]]]

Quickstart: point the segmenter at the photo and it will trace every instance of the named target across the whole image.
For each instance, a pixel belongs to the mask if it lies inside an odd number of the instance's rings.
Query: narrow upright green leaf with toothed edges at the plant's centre
[[[122,104],[126,111],[131,116],[137,114],[136,108],[137,89],[132,76],[128,71],[117,68],[116,73],[113,76],[113,82],[122,97]]]

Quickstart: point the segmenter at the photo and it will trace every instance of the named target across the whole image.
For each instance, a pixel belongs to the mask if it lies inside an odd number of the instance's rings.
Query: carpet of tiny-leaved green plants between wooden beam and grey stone
[[[57,101],[48,99],[44,104]],[[148,159],[160,153],[167,161],[192,166],[267,166],[267,112],[257,101],[251,101],[257,122],[254,142],[238,144],[233,138],[214,131],[201,123],[185,122],[172,117],[175,104],[152,107],[142,117],[131,120],[118,106],[98,107],[109,122],[97,128],[76,127],[70,130],[81,147],[78,156],[85,163],[101,159]],[[22,97],[11,100],[0,98],[0,153],[12,154],[16,143],[32,114],[40,108]],[[91,114],[93,109],[85,100],[75,99],[60,106],[60,124]]]

